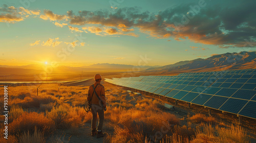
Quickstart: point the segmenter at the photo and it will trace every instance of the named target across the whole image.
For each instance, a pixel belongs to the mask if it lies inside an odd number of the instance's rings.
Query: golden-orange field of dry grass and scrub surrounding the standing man
[[[156,99],[143,99],[109,83],[103,85],[108,103],[103,142],[250,142],[247,131],[239,125],[225,125],[204,114],[179,118]],[[82,106],[89,86],[60,86],[58,90],[57,84],[44,84],[38,96],[37,87],[8,87],[9,138],[3,137],[1,123],[0,142],[62,142],[55,136],[58,130],[68,136],[83,135],[80,129],[92,119],[92,113]],[[3,102],[0,107],[3,110]]]

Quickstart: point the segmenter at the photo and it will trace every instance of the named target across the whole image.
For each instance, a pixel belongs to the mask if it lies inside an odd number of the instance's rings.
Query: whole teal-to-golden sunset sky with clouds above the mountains
[[[0,1],[0,65],[168,65],[254,51],[255,1]]]

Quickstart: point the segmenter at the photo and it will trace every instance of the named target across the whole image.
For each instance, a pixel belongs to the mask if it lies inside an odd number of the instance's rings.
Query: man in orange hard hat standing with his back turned
[[[102,84],[100,84],[101,76],[96,74],[94,76],[94,84],[89,87],[87,100],[89,105],[92,106],[92,136],[97,133],[97,138],[103,137],[102,126],[104,122],[104,111],[106,111],[106,99],[105,99],[105,89]],[[96,131],[97,114],[99,114],[98,132]]]

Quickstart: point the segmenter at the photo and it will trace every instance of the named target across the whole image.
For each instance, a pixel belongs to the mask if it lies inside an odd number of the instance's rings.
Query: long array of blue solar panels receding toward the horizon
[[[256,119],[256,69],[113,78],[105,81]]]

